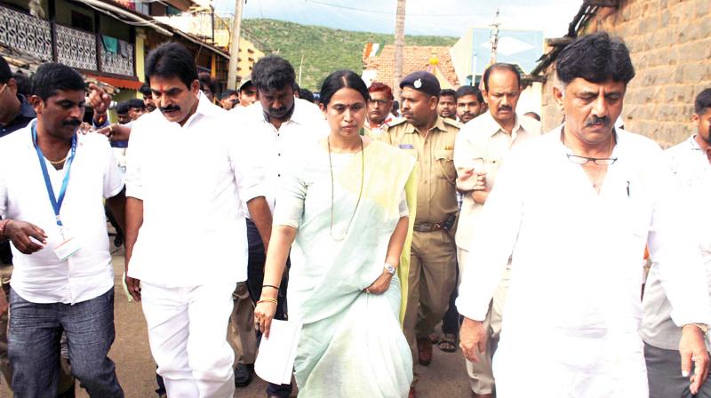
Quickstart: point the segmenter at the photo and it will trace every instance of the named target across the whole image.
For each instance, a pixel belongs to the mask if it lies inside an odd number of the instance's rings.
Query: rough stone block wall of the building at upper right
[[[626,129],[662,147],[689,137],[693,100],[711,87],[711,0],[622,0],[619,9],[602,8],[590,20],[585,33],[595,31],[622,38],[635,65],[622,111]],[[548,69],[541,111],[552,129],[563,115]]]

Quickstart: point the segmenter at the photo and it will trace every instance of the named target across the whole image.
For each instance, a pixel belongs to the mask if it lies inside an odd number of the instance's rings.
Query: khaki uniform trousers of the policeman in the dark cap
[[[456,245],[448,231],[417,232],[412,235],[407,308],[403,322],[412,353],[412,370],[417,382],[417,338],[429,331],[447,312],[451,291],[457,282]]]

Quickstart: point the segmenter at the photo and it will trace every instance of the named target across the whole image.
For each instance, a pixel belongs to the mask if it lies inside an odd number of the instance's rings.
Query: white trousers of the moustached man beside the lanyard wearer
[[[141,286],[150,350],[168,396],[232,397],[234,353],[227,330],[236,283]]]

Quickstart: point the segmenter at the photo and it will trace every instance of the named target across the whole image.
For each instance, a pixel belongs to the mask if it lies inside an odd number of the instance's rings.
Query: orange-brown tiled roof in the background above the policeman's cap
[[[378,70],[377,81],[388,85],[393,84],[395,76],[395,45],[387,44],[375,57],[367,57],[371,45],[363,47],[363,69]],[[457,73],[451,62],[449,47],[408,45],[403,48],[403,76],[416,70],[429,70],[432,66],[429,60],[436,57],[439,60],[437,67],[452,87],[459,86]]]

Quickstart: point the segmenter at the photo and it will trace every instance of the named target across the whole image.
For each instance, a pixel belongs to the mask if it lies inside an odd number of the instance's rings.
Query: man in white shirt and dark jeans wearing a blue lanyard
[[[0,239],[12,242],[8,355],[16,396],[57,391],[60,336],[92,397],[123,397],[114,362],[114,273],[104,199],[124,219],[124,181],[106,138],[77,134],[84,79],[47,63],[32,78],[37,118],[0,140]]]

